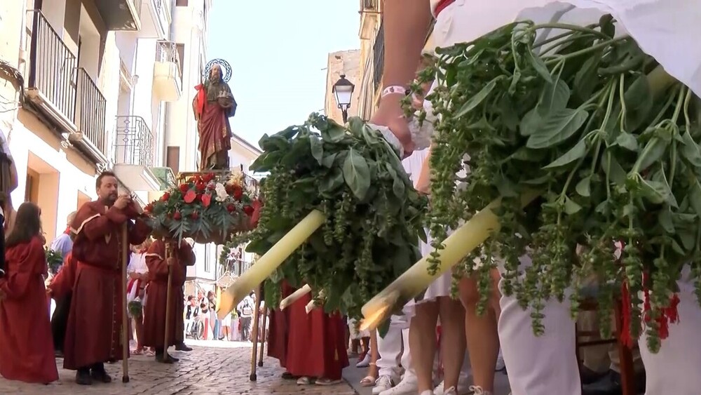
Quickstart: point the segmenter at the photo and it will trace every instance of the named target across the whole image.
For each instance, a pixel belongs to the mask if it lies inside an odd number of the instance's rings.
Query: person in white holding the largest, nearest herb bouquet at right
[[[436,14],[434,39],[439,47],[472,41],[517,19],[587,25],[611,13],[620,22],[619,27],[636,32],[641,48],[655,56],[667,72],[701,94],[701,47],[695,42],[701,35],[697,23],[701,2],[695,0],[385,0],[385,88],[409,86],[431,20],[429,11]],[[680,57],[679,53],[685,55]],[[416,142],[400,100],[383,98],[371,121],[390,128],[404,153],[411,154]],[[521,264],[527,267],[531,259],[522,257]],[[697,374],[701,371],[701,309],[693,296],[690,274],[681,276],[678,284],[681,321],[669,328],[660,352],[650,354],[645,336],[639,339],[649,395],[694,395],[701,387],[701,375]],[[515,297],[501,298],[498,330],[512,394],[580,395],[569,303],[549,300],[543,314],[545,333],[536,337],[530,312],[524,311]]]

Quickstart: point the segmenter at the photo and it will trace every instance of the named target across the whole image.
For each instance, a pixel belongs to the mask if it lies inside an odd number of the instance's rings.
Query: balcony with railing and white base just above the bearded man
[[[116,116],[114,173],[131,191],[161,189],[151,168],[156,164],[156,138],[149,124],[135,115]]]

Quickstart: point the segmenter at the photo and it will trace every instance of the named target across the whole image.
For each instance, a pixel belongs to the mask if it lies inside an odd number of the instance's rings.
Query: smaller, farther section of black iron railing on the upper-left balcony
[[[78,95],[76,96],[76,126],[83,135],[95,145],[98,151],[107,156],[107,139],[105,138],[105,116],[107,100],[90,78],[86,69],[78,69]]]

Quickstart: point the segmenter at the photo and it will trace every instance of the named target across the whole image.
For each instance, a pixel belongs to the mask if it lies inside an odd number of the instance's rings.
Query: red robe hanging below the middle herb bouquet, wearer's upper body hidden
[[[294,376],[341,380],[343,368],[348,366],[346,351],[346,322],[341,314],[326,314],[324,309],[306,305],[311,301],[307,293],[290,307],[287,355],[285,368]]]

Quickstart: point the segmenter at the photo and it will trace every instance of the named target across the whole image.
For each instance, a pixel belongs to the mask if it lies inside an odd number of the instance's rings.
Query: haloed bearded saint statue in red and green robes
[[[200,137],[199,170],[229,170],[232,136],[229,117],[236,114],[236,100],[227,83],[231,67],[224,60],[212,60],[208,66],[205,82],[195,87],[198,92],[192,102]]]

